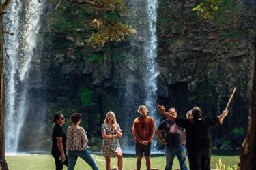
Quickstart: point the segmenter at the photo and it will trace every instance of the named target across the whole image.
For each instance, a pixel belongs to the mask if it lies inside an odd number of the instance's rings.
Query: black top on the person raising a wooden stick
[[[178,126],[186,129],[186,146],[188,149],[210,148],[210,130],[219,125],[218,118],[176,118]]]

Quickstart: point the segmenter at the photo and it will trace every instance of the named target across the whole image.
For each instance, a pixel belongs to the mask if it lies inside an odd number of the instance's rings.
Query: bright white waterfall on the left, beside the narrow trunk
[[[43,1],[12,0],[4,15],[4,29],[14,35],[5,35],[5,148],[17,152],[20,131],[25,125],[31,105],[29,71],[37,46],[40,14]]]

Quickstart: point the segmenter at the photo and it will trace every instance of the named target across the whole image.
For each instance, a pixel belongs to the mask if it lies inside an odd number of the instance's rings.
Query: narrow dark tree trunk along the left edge
[[[10,2],[10,1],[9,1]],[[9,5],[10,3],[8,3]],[[2,0],[0,0],[0,169],[8,170],[5,159],[5,135],[4,135],[4,118],[5,118],[5,86],[4,86],[4,69],[3,69],[3,13]]]

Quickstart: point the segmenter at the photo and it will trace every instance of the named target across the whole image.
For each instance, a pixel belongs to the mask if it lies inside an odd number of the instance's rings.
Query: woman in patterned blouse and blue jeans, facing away
[[[85,133],[85,129],[79,126],[81,122],[81,114],[74,113],[70,116],[72,126],[68,127],[66,150],[68,151],[68,170],[73,170],[76,165],[78,157],[85,160],[85,162],[94,170],[98,170],[98,166],[91,157],[91,154],[87,150],[88,139]]]

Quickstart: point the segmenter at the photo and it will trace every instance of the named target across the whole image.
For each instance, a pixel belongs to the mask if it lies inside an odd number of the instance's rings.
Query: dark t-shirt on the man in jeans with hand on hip
[[[167,141],[168,146],[173,147],[181,147],[182,140],[183,140],[183,128],[177,126],[175,122],[171,122],[170,120],[166,119],[163,120],[158,130],[162,131],[165,129],[165,141]]]

